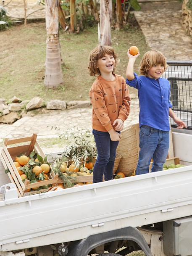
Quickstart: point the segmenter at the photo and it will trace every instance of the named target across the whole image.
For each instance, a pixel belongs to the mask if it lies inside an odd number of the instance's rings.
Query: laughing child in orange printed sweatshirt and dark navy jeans
[[[113,178],[116,148],[124,121],[129,116],[130,96],[125,79],[114,74],[117,55],[110,46],[98,45],[89,56],[89,74],[97,77],[89,90],[92,103],[92,128],[97,147],[93,182]]]

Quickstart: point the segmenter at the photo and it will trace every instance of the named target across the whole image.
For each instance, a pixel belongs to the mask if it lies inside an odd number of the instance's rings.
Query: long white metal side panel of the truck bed
[[[192,166],[0,201],[0,251],[192,215]]]

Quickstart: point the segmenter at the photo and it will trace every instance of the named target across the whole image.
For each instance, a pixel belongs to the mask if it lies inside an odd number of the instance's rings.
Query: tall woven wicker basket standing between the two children
[[[126,177],[131,176],[138,162],[139,155],[139,124],[121,132],[121,140],[117,147],[117,153],[122,156],[118,171],[123,172]]]

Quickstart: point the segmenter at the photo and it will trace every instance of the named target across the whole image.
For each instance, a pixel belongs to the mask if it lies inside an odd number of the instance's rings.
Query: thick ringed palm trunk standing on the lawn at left
[[[63,83],[61,53],[58,34],[58,0],[46,0],[47,51],[44,84],[56,88]]]

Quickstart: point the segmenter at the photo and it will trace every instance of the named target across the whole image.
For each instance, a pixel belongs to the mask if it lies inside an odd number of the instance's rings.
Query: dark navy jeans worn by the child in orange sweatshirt
[[[113,178],[118,141],[110,140],[108,132],[93,130],[93,135],[97,147],[97,160],[93,169],[93,183],[102,182],[103,174],[105,180],[110,180]]]

